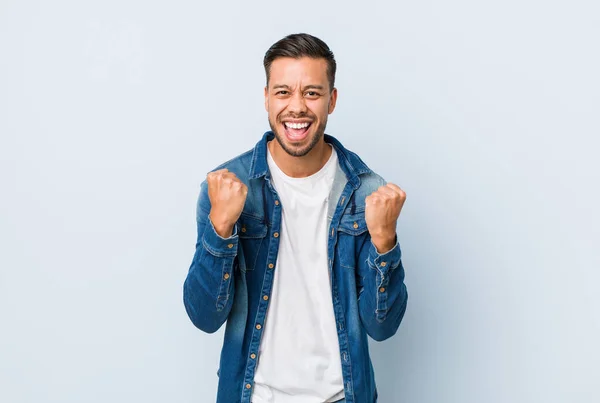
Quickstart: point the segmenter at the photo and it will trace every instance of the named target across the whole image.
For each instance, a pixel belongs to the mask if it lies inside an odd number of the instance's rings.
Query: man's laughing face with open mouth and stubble
[[[265,109],[277,142],[289,155],[304,156],[318,144],[336,99],[325,59],[282,57],[271,64]]]

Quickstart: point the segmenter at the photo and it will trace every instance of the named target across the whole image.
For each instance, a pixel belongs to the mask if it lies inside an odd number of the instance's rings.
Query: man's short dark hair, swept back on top
[[[275,42],[263,59],[265,73],[267,74],[267,85],[271,75],[271,63],[280,57],[311,57],[313,59],[325,59],[327,62],[327,79],[329,80],[329,89],[333,90],[335,84],[335,58],[329,46],[316,36],[309,34],[292,34]]]

